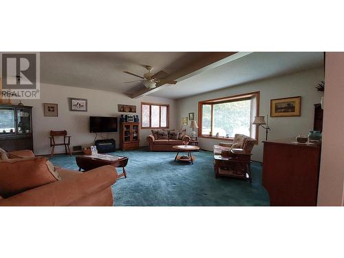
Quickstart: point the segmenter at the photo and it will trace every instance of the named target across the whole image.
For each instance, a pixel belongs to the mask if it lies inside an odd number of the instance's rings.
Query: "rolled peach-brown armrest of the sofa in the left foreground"
[[[114,166],[100,166],[0,200],[0,206],[74,206],[109,188],[117,180]]]

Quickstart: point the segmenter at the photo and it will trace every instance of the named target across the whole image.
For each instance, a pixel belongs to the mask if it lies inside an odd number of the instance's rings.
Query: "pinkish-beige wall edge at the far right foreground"
[[[344,52],[327,52],[318,206],[343,205]]]

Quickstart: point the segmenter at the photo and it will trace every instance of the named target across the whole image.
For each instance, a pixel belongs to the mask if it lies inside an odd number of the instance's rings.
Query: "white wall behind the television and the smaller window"
[[[68,98],[87,98],[87,112],[69,111]],[[105,92],[96,89],[85,89],[80,87],[66,87],[61,85],[41,84],[40,100],[25,100],[24,105],[33,106],[32,122],[34,133],[34,153],[43,155],[50,153],[49,133],[50,130],[67,130],[72,136],[72,146],[83,147],[94,144],[94,133],[89,133],[89,116],[119,116],[118,104],[136,105],[137,114],[141,121],[141,102],[165,103],[170,105],[170,127],[175,127],[175,100],[166,98],[155,98],[146,96],[132,99],[125,94]],[[12,101],[14,104],[17,102]],[[58,117],[44,116],[43,103],[57,103]],[[129,114],[129,113],[127,113]],[[131,113],[130,113],[131,114]],[[141,130],[140,145],[147,145],[146,137],[150,130]],[[107,133],[102,133],[107,136]],[[110,133],[110,138],[116,140],[119,147],[119,132]],[[98,138],[100,139],[100,138]],[[56,147],[56,153],[63,153],[63,147]]]

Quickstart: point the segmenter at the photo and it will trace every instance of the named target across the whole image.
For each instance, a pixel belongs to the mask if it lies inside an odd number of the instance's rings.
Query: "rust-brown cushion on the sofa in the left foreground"
[[[56,181],[44,157],[4,160],[0,165],[0,195],[5,198]]]

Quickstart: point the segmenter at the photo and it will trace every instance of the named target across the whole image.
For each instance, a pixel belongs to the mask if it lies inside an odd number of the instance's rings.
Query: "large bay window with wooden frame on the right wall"
[[[230,139],[236,133],[257,139],[257,126],[252,125],[258,116],[259,92],[226,98],[204,100],[199,103],[200,137]]]

